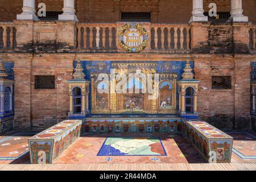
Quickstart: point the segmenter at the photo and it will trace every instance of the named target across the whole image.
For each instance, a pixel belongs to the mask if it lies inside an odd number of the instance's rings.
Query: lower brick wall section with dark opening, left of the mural
[[[73,54],[27,54],[3,56],[14,61],[15,129],[43,130],[67,118]],[[35,75],[54,75],[55,89],[35,89]]]

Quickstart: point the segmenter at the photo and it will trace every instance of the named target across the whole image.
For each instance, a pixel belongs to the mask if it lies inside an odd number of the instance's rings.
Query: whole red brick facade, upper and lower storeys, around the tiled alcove
[[[61,11],[63,7],[62,0],[36,1],[36,3],[40,2],[46,3],[49,11]],[[121,11],[151,11],[152,23],[188,24],[188,20],[191,18],[191,0],[155,0],[148,4],[146,2],[148,1],[138,1],[138,6],[134,7],[129,6],[125,1],[77,0],[76,15],[80,22],[94,23],[118,22]],[[218,11],[230,11],[230,0],[204,1],[205,11],[208,11],[209,2],[216,2],[219,7]],[[144,3],[147,6],[144,6]],[[22,1],[16,0],[10,3],[10,1],[0,0],[0,9],[3,13],[0,17],[1,22],[14,20],[16,14],[22,12]],[[256,2],[243,0],[243,9],[245,10],[244,14],[249,16],[249,20],[256,22],[254,12]],[[250,62],[256,61],[255,54],[250,53],[248,48],[251,23],[220,25],[224,30],[229,30],[229,28],[232,30],[230,36],[232,36],[233,41],[230,44],[230,49],[225,49],[226,47],[222,45],[213,46],[209,43],[209,30],[214,27],[213,25],[210,23],[191,23],[188,25],[191,28],[191,52],[168,53],[164,51],[153,52],[154,50],[151,52],[150,47],[148,47],[146,53],[135,54],[123,51],[119,51],[121,53],[86,53],[76,49],[77,39],[79,39],[77,38],[79,36],[77,35],[77,24],[74,22],[14,20],[16,47],[11,50],[1,50],[0,57],[4,61],[14,61],[16,129],[40,130],[67,118],[69,109],[67,80],[72,78],[73,60],[76,59],[89,61],[180,61],[193,59],[195,61],[195,78],[200,80],[199,116],[220,128],[249,129],[251,127]],[[95,23],[94,27],[97,26]],[[159,31],[161,31],[160,28]],[[47,40],[51,40],[52,43],[46,43]],[[161,43],[159,42],[159,44]],[[221,44],[221,42],[217,44]],[[47,48],[47,46],[49,47]],[[55,89],[35,90],[35,75],[54,75]],[[232,89],[212,89],[212,76],[232,76]]]

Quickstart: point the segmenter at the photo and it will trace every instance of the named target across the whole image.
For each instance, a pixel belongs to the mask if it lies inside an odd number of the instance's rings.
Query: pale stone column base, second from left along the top
[[[59,15],[60,21],[76,21],[79,20],[76,17],[75,0],[64,0],[63,14]]]

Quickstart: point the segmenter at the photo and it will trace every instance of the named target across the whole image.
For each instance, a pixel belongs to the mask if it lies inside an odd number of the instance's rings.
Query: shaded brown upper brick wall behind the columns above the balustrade
[[[11,2],[11,3],[10,3]],[[16,14],[22,13],[23,0],[0,0],[1,18],[0,21],[16,19]],[[36,5],[46,3],[48,11],[62,11],[63,0],[36,0]],[[126,2],[121,1],[119,11],[152,11],[158,4],[159,23],[187,23],[192,14],[192,1],[183,0],[160,0],[149,2]],[[158,2],[158,3],[157,3]],[[217,4],[217,11],[230,11],[230,0],[204,0],[204,10],[209,11],[209,3]],[[244,14],[249,20],[256,22],[256,1],[243,0]],[[77,0],[77,17],[80,22],[114,22],[113,0]]]

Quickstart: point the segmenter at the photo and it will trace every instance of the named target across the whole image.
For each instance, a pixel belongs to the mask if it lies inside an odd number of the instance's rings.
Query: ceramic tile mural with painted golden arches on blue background
[[[74,67],[77,62],[74,63]],[[89,93],[89,110],[92,114],[176,114],[179,94],[177,94],[176,81],[180,80],[186,61],[86,61],[81,60],[86,80],[91,81]],[[193,63],[191,62],[193,68]],[[134,74],[132,78],[127,76],[126,83],[118,80],[109,83],[114,72],[117,79],[118,74]],[[159,97],[150,100],[151,95],[147,92],[147,83],[151,78],[139,78],[135,73],[140,70],[146,76],[148,74],[159,74]],[[104,73],[107,80],[97,78]],[[122,84],[123,90],[137,90],[138,92],[125,92],[112,96],[110,91],[100,93],[99,88],[112,90],[118,84]],[[115,97],[115,98],[113,98]]]

